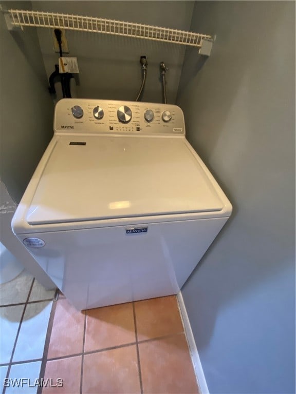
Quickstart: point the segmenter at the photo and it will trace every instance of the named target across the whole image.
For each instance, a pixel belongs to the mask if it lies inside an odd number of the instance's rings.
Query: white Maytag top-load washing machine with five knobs
[[[179,107],[63,99],[12,229],[81,310],[176,294],[231,211]]]

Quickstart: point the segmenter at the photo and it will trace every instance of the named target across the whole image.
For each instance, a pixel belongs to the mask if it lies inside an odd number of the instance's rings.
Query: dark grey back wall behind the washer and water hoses
[[[189,30],[193,1],[34,1],[36,11],[62,12]],[[38,31],[47,75],[54,71],[58,54],[52,32]],[[161,102],[159,63],[167,73],[168,102],[175,103],[185,47],[101,33],[66,31],[69,55],[78,58],[78,97],[136,100],[141,85],[140,56],[148,56],[148,73],[142,101]]]

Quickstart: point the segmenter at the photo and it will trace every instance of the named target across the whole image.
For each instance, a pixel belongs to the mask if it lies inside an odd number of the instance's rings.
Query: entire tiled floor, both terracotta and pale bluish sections
[[[10,386],[3,394],[199,392],[175,296],[78,312],[61,293],[52,301],[54,291],[25,271],[7,285],[0,286],[1,381],[43,378],[51,387]]]

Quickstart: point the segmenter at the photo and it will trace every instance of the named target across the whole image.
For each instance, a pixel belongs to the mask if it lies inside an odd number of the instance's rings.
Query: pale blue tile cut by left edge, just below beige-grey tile
[[[9,363],[25,305],[0,308],[0,362]]]

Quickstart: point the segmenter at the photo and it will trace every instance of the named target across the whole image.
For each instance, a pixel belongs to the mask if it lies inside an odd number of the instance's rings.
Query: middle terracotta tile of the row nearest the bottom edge
[[[136,345],[86,354],[82,392],[140,393]]]

